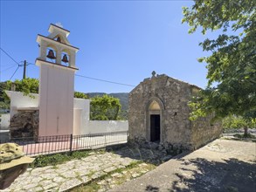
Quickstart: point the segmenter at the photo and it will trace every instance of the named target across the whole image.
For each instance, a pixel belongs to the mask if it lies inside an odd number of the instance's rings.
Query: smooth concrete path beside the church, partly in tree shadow
[[[216,140],[111,191],[256,191],[256,143]]]

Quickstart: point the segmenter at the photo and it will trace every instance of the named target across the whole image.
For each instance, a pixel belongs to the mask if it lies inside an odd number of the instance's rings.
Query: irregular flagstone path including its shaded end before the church
[[[152,148],[122,147],[104,154],[96,151],[81,160],[44,168],[28,168],[24,175],[20,175],[10,185],[10,188],[0,191],[66,191],[82,184],[85,186],[92,181],[99,182],[100,184],[97,184],[100,185],[100,190],[105,191],[149,172],[155,168],[153,164],[158,165],[170,158],[170,155]],[[126,170],[131,165],[136,166]],[[107,181],[100,180],[104,176]],[[118,178],[119,181],[114,178]]]

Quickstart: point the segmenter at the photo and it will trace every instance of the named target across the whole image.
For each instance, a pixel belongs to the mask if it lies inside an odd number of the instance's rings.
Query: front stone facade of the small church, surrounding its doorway
[[[168,147],[190,148],[190,94],[189,84],[166,75],[145,79],[129,94],[130,141],[149,141],[149,104],[156,100],[161,106],[160,142]]]

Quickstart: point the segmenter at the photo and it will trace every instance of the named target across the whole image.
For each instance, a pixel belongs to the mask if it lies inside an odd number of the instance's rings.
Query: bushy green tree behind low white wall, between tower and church
[[[107,94],[91,99],[91,120],[118,120],[121,104],[119,99]]]

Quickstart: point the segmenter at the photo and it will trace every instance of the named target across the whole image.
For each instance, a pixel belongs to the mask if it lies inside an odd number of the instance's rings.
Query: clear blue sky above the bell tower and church
[[[166,74],[205,87],[206,55],[198,46],[199,31],[188,34],[181,24],[182,7],[192,1],[1,1],[1,48],[17,62],[34,63],[38,57],[38,34],[47,36],[50,24],[61,23],[71,31],[68,39],[79,47],[77,74],[137,86],[151,72]],[[17,64],[1,51],[1,81],[10,79]],[[19,67],[12,80],[22,79]],[[27,76],[38,78],[36,65],[27,66]],[[75,90],[130,92],[120,86],[75,77]]]

